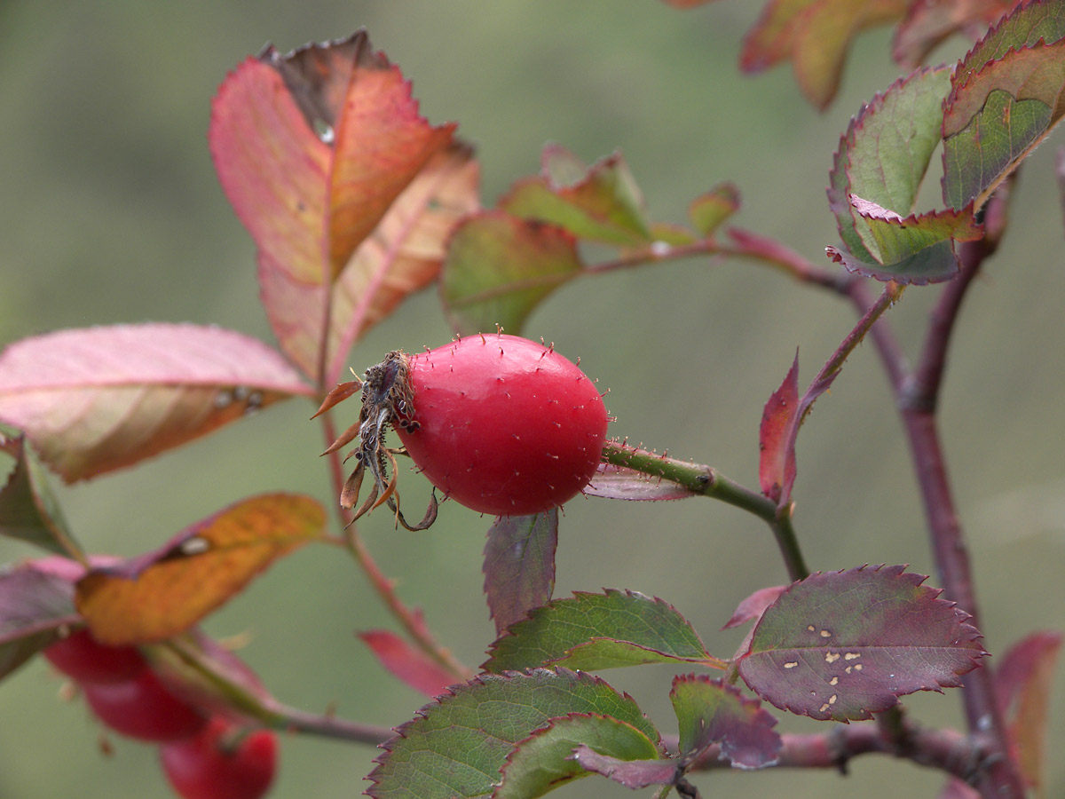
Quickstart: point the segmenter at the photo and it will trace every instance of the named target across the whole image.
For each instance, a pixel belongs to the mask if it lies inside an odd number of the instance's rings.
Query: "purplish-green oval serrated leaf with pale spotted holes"
[[[902,566],[816,573],[761,616],[738,659],[751,689],[815,719],[870,718],[917,690],[961,685],[986,653],[968,614]]]

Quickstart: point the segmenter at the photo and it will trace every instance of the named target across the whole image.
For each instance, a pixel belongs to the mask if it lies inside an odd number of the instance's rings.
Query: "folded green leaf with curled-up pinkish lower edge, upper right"
[[[952,241],[982,234],[972,207],[914,213],[949,85],[946,67],[912,72],[863,108],[840,138],[829,207],[843,248],[826,251],[849,271],[904,283],[947,280],[957,272]]]

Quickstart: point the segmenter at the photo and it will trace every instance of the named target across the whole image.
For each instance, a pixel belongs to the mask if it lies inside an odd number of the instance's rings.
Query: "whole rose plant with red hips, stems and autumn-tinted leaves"
[[[0,533],[49,553],[0,574],[0,676],[44,652],[105,724],[161,744],[175,789],[201,799],[268,788],[269,730],[380,746],[366,792],[379,798],[530,799],[579,778],[695,797],[712,769],[841,768],[871,752],[943,771],[945,796],[1042,790],[1045,718],[1032,708],[1048,695],[1060,636],[1026,635],[988,667],[936,401],[958,308],[1006,228],[1015,176],[1065,115],[1065,0],[768,2],[741,65],[790,60],[803,95],[824,108],[852,38],[888,21],[907,71],[826,149],[824,210],[838,241],[821,262],[731,226],[740,207],[732,183],[695,197],[685,224],[652,221],[619,153],[589,166],[548,145],[541,174],[482,207],[473,148],[456,125],[421,115],[365,31],[245,59],[212,101],[210,151],[256,243],[277,347],[149,323],[33,336],[0,354],[0,449],[12,461]],[[973,36],[964,58],[921,65],[955,33]],[[937,151],[943,207],[927,209],[920,186]],[[823,290],[856,316],[805,387],[796,356],[766,399],[757,487],[632,445],[607,413],[593,354],[580,364],[568,342],[520,335],[578,277],[724,256]],[[428,287],[453,341],[411,353],[357,346]],[[935,311],[911,368],[888,311],[904,292],[931,291]],[[634,335],[620,325],[618,345]],[[801,545],[799,431],[863,341],[913,451],[941,587],[905,566],[817,571]],[[379,362],[345,380],[355,357]],[[317,408],[331,524],[316,498],[264,493],[142,555],[101,559],[49,489],[46,468],[67,483],[96,477],[292,397]],[[310,464],[317,453],[298,457]],[[425,486],[411,471],[431,484],[420,520],[404,512]],[[725,626],[748,625],[747,636],[717,654],[668,597],[637,587],[553,597],[564,506],[581,494],[727,503],[765,523],[788,580],[739,603]],[[391,525],[416,541],[456,505],[491,518],[484,573],[496,638],[476,670],[404,602],[360,532]],[[282,704],[199,630],[310,543],[354,554],[395,619],[399,633],[361,634],[428,698],[394,730]],[[675,671],[670,728],[599,673],[652,664]],[[961,689],[964,731],[904,714],[901,697],[947,687]],[[831,727],[780,733],[776,713]]]

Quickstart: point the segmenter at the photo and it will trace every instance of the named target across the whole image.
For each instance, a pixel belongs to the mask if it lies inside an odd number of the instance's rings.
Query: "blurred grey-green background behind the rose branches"
[[[850,116],[898,75],[889,32],[859,37],[839,97],[824,114],[799,98],[787,67],[737,70],[760,3],[678,12],[657,0],[111,0],[0,4],[0,344],[62,327],[142,321],[213,323],[264,340],[253,247],[215,180],[209,103],[227,70],[267,42],[289,50],[365,26],[413,81],[433,123],[456,120],[482,164],[486,205],[538,169],[559,142],[593,161],[622,149],[650,214],[683,221],[721,180],[743,196],[735,223],[817,263],[836,242],[824,186]],[[491,11],[487,9],[491,7]],[[961,43],[937,53],[953,59]],[[1056,136],[1061,141],[1061,135]],[[992,652],[1065,619],[1065,297],[1062,212],[1053,148],[1021,175],[1010,230],[964,308],[941,403],[943,433],[967,528]],[[937,180],[929,192],[937,200]],[[911,289],[888,314],[916,354],[938,290]],[[611,431],[757,485],[761,406],[799,348],[803,386],[853,323],[824,292],[743,262],[691,260],[573,282],[529,320],[609,387]],[[396,347],[448,340],[436,296],[407,303],[353,352],[362,371]],[[799,441],[797,526],[815,569],[933,566],[905,443],[875,354],[852,356]],[[312,493],[331,503],[312,408],[291,402],[142,467],[61,488],[68,520],[94,552],[132,555],[248,494]],[[408,478],[411,483],[416,479]],[[413,498],[420,486],[408,486]],[[426,533],[388,515],[361,529],[400,596],[475,666],[492,639],[480,552],[490,520],[456,505]],[[0,560],[33,554],[0,541]],[[710,502],[566,507],[556,596],[633,588],[673,603],[710,651],[730,655],[742,631],[718,632],[736,603],[785,582],[768,531]],[[931,584],[936,584],[933,576]],[[282,701],[384,725],[424,700],[376,665],[355,633],[392,629],[361,573],[331,548],[307,548],[206,624],[247,633],[242,654]],[[606,672],[663,731],[673,669]],[[1059,669],[1061,672],[1061,669]],[[1059,678],[1061,673],[1059,673]],[[111,736],[81,702],[60,698],[43,661],[0,685],[0,799],[171,794],[148,746]],[[1053,694],[1048,748],[1065,744],[1065,690]],[[960,696],[905,700],[916,718],[956,724]],[[785,731],[823,730],[782,718]],[[274,797],[358,795],[374,751],[306,737],[283,740]],[[828,772],[697,776],[704,796],[927,796],[943,778],[862,757],[843,781]],[[645,792],[650,793],[650,792]],[[1065,793],[1050,761],[1048,796]],[[559,797],[627,797],[583,780]]]

